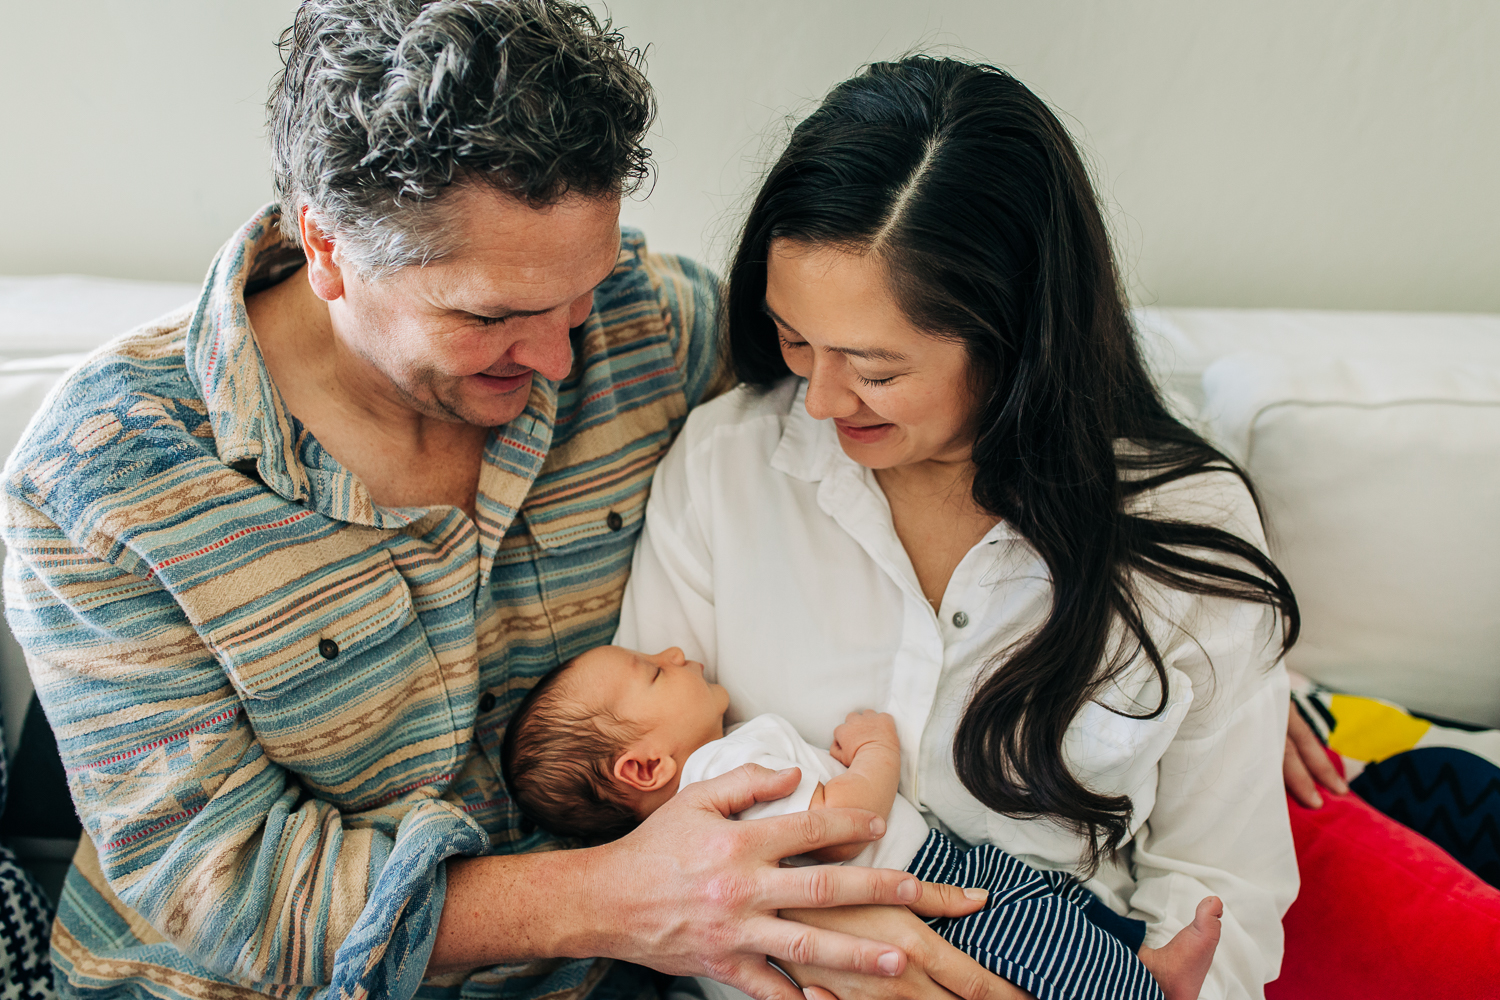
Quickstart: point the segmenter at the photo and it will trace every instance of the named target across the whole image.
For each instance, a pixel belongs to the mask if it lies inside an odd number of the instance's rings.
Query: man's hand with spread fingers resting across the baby
[[[710,976],[759,1000],[804,1000],[766,964],[771,957],[820,973],[856,973],[856,982],[872,984],[872,996],[879,993],[879,984],[886,985],[884,996],[903,996],[894,982],[908,970],[900,945],[783,919],[778,912],[832,913],[825,907],[902,904],[902,913],[908,913],[904,904],[926,898],[944,915],[962,916],[984,901],[882,868],[782,868],[783,858],[872,841],[885,832],[885,820],[862,810],[726,819],[754,802],[789,795],[798,778],[796,769],[771,772],[746,765],[684,789],[630,835],[576,852],[590,856],[588,871],[578,891],[568,894],[573,898],[560,903],[580,907],[578,925],[592,930],[562,954],[608,955],[666,973]],[[921,921],[915,924],[927,930]],[[930,946],[910,928],[903,940]]]

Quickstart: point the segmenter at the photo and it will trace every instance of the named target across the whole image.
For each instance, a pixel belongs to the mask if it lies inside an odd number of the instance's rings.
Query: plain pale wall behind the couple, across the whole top
[[[292,0],[3,4],[0,273],[196,279],[267,198]],[[1140,301],[1500,312],[1494,0],[608,6],[651,45],[660,180],[627,220],[657,247],[722,259],[789,114],[958,45],[1064,112]]]

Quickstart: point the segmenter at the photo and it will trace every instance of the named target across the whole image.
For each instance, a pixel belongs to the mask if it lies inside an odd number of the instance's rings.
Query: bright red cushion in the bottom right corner
[[[1302,892],[1268,1000],[1500,997],[1500,891],[1354,795],[1287,799]]]

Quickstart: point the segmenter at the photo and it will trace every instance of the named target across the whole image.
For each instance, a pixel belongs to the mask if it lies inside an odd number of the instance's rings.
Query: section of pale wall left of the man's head
[[[0,0],[0,274],[198,282],[270,201],[297,0]]]

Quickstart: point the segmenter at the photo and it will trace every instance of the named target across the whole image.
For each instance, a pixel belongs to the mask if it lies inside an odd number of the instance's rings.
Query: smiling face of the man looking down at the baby
[[[572,369],[568,330],[620,255],[620,198],[570,195],[532,208],[466,184],[444,208],[456,252],[380,280],[345,265],[328,312],[369,366],[360,388],[426,417],[495,427],[525,409],[534,373],[561,379]]]

